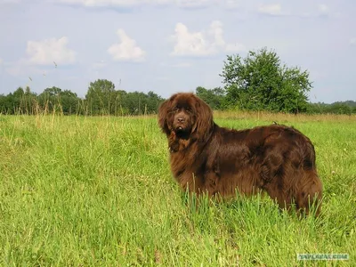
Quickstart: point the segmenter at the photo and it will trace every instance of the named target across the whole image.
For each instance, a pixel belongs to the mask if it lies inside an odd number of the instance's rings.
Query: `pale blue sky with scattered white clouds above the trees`
[[[223,86],[263,47],[308,70],[310,101],[356,101],[354,0],[0,0],[0,93],[108,79],[162,97]]]

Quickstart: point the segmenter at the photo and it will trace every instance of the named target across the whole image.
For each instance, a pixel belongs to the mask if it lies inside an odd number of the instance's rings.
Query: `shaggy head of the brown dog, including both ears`
[[[205,140],[214,125],[213,112],[195,94],[175,93],[159,106],[158,125],[167,135],[174,133],[181,139],[195,135]]]

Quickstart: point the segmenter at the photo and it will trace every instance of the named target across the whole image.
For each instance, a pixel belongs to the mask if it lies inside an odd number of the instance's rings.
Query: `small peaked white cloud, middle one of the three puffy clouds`
[[[108,53],[113,57],[114,61],[143,61],[145,52],[136,44],[136,41],[126,35],[121,28],[117,30],[117,36],[120,43],[112,44]]]

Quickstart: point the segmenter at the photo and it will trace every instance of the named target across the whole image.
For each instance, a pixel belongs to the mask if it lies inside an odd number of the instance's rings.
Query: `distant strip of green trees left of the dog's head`
[[[164,101],[157,93],[125,92],[116,90],[107,79],[90,83],[85,98],[59,87],[33,93],[27,86],[15,92],[0,95],[0,113],[28,114],[60,113],[63,115],[142,115],[155,113]]]

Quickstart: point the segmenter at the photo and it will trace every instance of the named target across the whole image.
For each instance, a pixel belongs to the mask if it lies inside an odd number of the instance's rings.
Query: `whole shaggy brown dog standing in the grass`
[[[158,109],[166,134],[171,170],[182,186],[197,194],[231,197],[266,191],[284,208],[295,204],[309,213],[322,196],[312,142],[285,125],[242,131],[216,125],[206,102],[193,93],[175,93]]]

